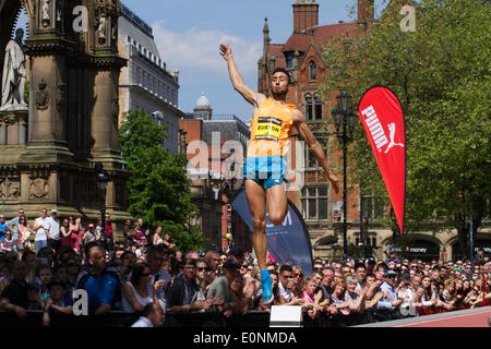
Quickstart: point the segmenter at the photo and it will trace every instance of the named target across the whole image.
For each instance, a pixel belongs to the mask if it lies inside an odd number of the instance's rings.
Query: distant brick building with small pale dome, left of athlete
[[[229,156],[224,145],[228,141],[238,141],[246,152],[249,127],[236,116],[213,115],[209,100],[203,94],[196,100],[193,112],[179,121],[179,129],[181,152],[187,153],[190,161],[188,176],[192,182],[193,203],[197,208],[191,225],[201,226],[203,236],[208,239],[205,249],[226,251],[229,241],[225,237],[230,232],[237,244],[252,251],[252,236],[229,204],[229,195],[233,193],[228,189],[233,185],[237,191],[241,182],[232,183],[223,171],[224,161]],[[196,148],[200,151],[196,152]]]

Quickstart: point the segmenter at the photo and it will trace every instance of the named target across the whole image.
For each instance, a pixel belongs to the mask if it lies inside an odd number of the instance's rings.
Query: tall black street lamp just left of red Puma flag
[[[344,258],[348,256],[348,205],[347,205],[347,153],[348,143],[352,142],[356,115],[350,110],[351,96],[343,88],[339,96],[336,97],[337,107],[332,111],[334,124],[336,127],[336,136],[343,144],[343,254]]]

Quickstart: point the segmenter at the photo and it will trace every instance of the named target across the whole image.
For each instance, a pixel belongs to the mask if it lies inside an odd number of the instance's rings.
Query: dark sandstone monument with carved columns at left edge
[[[118,81],[125,64],[117,45],[120,1],[0,0],[2,75],[22,9],[29,98],[24,109],[0,106],[0,212],[14,217],[22,207],[34,218],[46,207],[96,220],[104,197],[122,227],[130,218],[130,173],[118,144]],[[96,163],[109,174],[105,193]]]

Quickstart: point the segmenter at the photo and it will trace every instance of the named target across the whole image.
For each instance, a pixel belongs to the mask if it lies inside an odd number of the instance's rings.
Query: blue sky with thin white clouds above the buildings
[[[375,0],[375,8],[386,0]],[[168,69],[180,71],[179,108],[192,111],[205,93],[214,113],[251,117],[252,107],[231,87],[220,43],[231,44],[246,84],[258,86],[264,17],[273,44],[285,43],[292,32],[295,0],[122,0],[154,28],[155,41]],[[318,0],[319,23],[352,21],[357,0]],[[379,13],[379,11],[378,11]]]

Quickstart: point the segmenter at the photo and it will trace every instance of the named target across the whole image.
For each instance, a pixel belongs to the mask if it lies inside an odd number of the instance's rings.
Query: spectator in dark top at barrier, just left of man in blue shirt
[[[65,285],[60,279],[52,279],[48,286],[50,297],[45,301],[43,313],[43,325],[48,327],[51,324],[52,314],[70,315],[73,308],[73,299],[70,292],[65,292]]]

